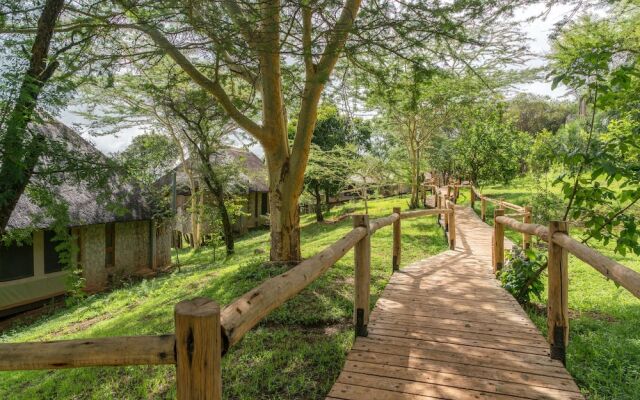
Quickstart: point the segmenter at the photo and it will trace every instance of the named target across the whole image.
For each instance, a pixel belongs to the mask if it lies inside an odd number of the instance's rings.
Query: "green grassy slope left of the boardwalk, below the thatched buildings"
[[[372,217],[385,216],[406,198],[372,201]],[[342,210],[341,210],[342,209]],[[336,209],[362,211],[362,204]],[[350,219],[334,225],[303,217],[303,255],[309,257],[351,228]],[[254,231],[240,239],[230,259],[211,262],[211,252],[181,251],[181,269],[111,293],[91,296],[77,306],[19,327],[3,342],[81,337],[162,334],[173,330],[173,306],[195,296],[221,304],[281,273],[266,267],[269,234]],[[372,239],[373,305],[391,273],[391,230]],[[446,248],[433,217],[403,221],[403,264]],[[347,254],[300,295],[270,314],[224,358],[223,384],[229,399],[320,399],[335,381],[353,340],[353,255]],[[0,399],[174,398],[173,367],[79,368],[58,371],[0,372]]]

